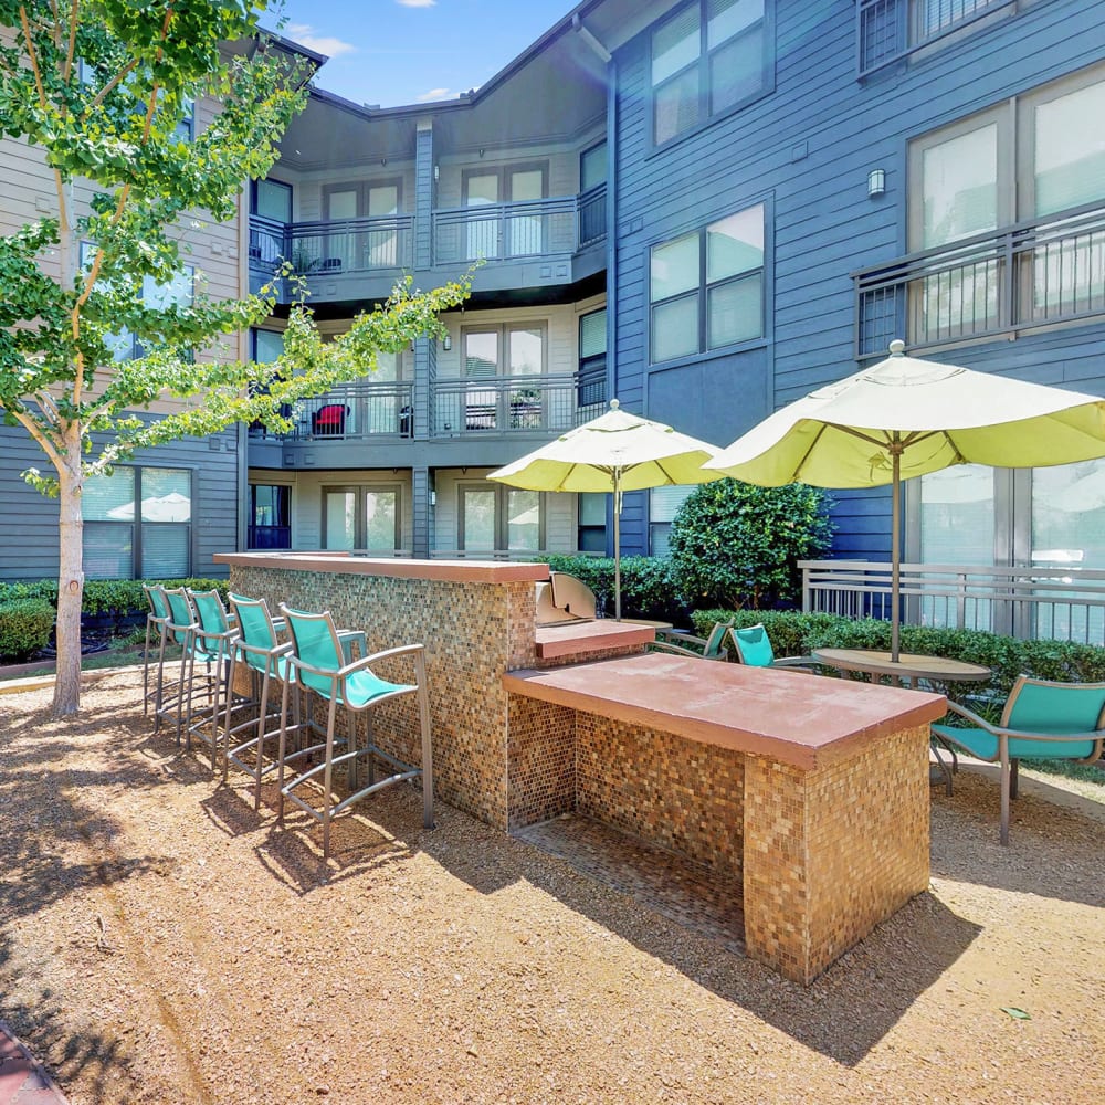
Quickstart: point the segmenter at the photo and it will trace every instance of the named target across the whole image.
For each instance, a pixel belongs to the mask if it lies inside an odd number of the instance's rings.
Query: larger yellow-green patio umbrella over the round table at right
[[[901,481],[953,464],[1031,469],[1105,456],[1105,400],[891,356],[776,411],[706,467],[766,487],[893,485],[891,653],[898,659]]]

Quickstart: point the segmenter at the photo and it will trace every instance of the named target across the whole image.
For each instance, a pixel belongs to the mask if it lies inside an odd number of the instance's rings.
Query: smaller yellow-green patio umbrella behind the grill
[[[622,493],[722,480],[702,465],[717,450],[697,438],[623,411],[610,410],[556,441],[492,472],[487,478],[526,491],[612,492],[614,496],[614,618],[621,621]]]

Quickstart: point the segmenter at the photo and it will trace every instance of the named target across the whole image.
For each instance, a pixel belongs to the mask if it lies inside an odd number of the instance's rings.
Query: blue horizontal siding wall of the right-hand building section
[[[851,274],[906,252],[909,140],[1105,59],[1105,0],[1038,0],[860,82],[852,0],[779,0],[776,11],[775,91],[661,150],[649,141],[648,32],[617,56],[617,394],[719,445],[857,370]],[[869,199],[873,168],[886,193]],[[650,370],[650,245],[757,202],[768,208],[765,340]],[[1105,327],[1087,326],[939,359],[1105,394],[1103,339]],[[886,557],[888,492],[834,497],[836,551]],[[627,549],[643,543],[628,517],[623,529]]]

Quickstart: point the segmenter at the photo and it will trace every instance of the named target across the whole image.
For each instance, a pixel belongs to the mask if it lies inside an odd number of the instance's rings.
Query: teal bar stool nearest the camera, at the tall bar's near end
[[[422,778],[422,824],[427,829],[433,828],[433,751],[430,738],[430,702],[427,696],[425,683],[425,654],[421,644],[401,645],[396,649],[388,649],[372,655],[361,656],[352,662],[346,661],[346,651],[343,645],[341,634],[338,633],[334,624],[334,619],[329,611],[325,613],[305,613],[301,610],[290,610],[281,606],[281,613],[287,619],[288,630],[292,634],[294,649],[288,656],[288,664],[292,669],[292,676],[284,684],[284,698],[281,704],[281,737],[280,754],[277,756],[280,771],[280,806],[277,817],[281,822],[284,820],[284,799],[291,799],[301,809],[309,813],[323,825],[323,860],[329,859],[330,854],[330,822],[358,799],[365,798],[377,790],[390,787],[407,779]],[[390,683],[376,675],[371,665],[382,661],[390,661],[398,656],[408,656],[413,662],[413,683]],[[327,704],[326,733],[322,741],[316,741],[307,747],[299,747],[296,751],[288,754],[287,736],[290,727],[287,725],[287,708],[290,692],[295,690],[295,697],[302,698],[304,692],[314,693]],[[394,756],[385,751],[372,740],[371,712],[383,703],[404,695],[414,695],[418,703],[419,728],[422,747],[422,762],[420,767],[404,764]],[[337,723],[337,708],[343,706],[348,713],[348,737],[341,737],[335,733]],[[309,706],[304,712],[303,704],[296,708],[296,723],[292,727],[295,736],[301,736],[301,730],[309,733],[317,732],[311,719]],[[358,746],[357,717],[366,715],[368,733],[364,747]],[[301,718],[306,717],[306,720]],[[320,735],[320,734],[319,734]],[[340,750],[335,755],[335,746]],[[288,782],[284,781],[284,769],[286,764],[299,759],[311,760],[312,757],[322,754],[322,762],[311,766],[306,770],[296,775]],[[361,787],[358,780],[358,759],[364,758],[368,766],[368,785]],[[393,769],[386,779],[377,780],[375,777],[375,760],[382,760]],[[334,767],[335,765],[348,765],[348,781],[350,793],[338,802],[334,801]],[[317,779],[322,775],[323,808],[316,809],[304,801],[297,793],[297,788],[304,783]]]

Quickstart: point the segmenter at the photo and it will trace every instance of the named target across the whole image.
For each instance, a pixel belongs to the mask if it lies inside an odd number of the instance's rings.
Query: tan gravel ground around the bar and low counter
[[[1065,783],[1008,849],[992,781],[934,788],[929,891],[803,989],[413,790],[324,882],[140,680],[0,696],[0,1018],[73,1105],[1105,1101],[1105,807]]]

